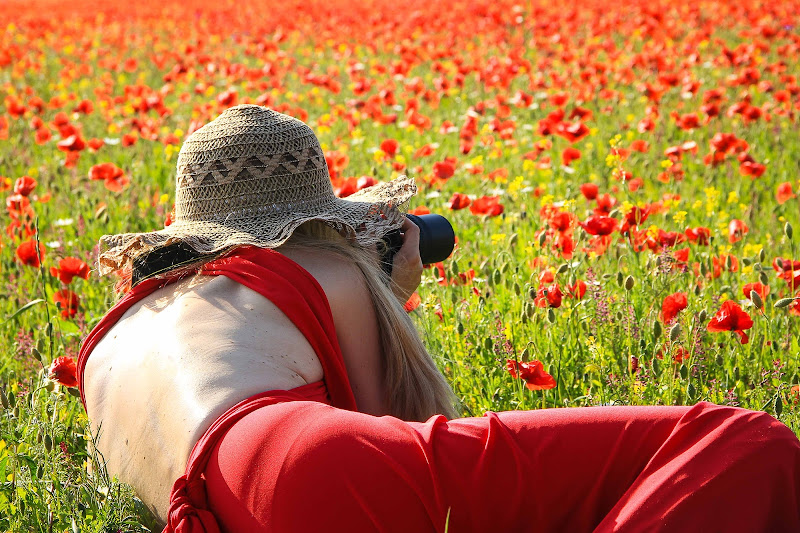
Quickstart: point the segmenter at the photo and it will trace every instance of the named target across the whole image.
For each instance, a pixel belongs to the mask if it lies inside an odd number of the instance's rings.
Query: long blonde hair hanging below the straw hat
[[[374,253],[349,243],[321,221],[304,223],[282,247],[333,252],[355,263],[364,275],[378,320],[385,368],[385,400],[393,416],[417,421],[435,414],[447,418],[457,416],[455,394],[392,292],[391,279],[381,269]]]

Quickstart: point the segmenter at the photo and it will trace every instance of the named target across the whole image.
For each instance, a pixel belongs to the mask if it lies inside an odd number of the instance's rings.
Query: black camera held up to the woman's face
[[[419,228],[419,255],[423,265],[438,263],[447,259],[456,244],[453,226],[442,215],[406,215],[406,218]],[[396,229],[383,238],[381,266],[387,275],[392,275],[394,254],[403,245],[400,230]]]

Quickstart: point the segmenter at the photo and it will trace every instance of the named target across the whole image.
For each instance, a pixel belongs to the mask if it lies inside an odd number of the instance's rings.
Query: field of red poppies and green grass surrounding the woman
[[[77,397],[129,285],[96,243],[169,224],[181,143],[244,103],[308,123],[337,195],[407,174],[452,222],[406,309],[465,416],[709,401],[800,434],[798,2],[143,4],[0,10],[0,530],[157,529]]]

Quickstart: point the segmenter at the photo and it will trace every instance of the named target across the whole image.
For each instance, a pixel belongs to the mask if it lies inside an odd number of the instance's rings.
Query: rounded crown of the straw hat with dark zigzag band
[[[296,118],[232,107],[198,129],[178,154],[176,222],[233,222],[334,198],[325,155]]]

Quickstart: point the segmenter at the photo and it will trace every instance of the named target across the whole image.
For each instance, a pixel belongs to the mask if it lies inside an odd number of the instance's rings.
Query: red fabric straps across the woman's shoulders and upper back
[[[78,354],[78,382],[84,407],[86,399],[83,392],[83,373],[86,361],[97,343],[136,302],[193,274],[195,272],[183,271],[172,277],[150,278],[139,283],[92,329]],[[356,409],[355,397],[336,339],[330,305],[325,291],[314,276],[275,250],[253,246],[236,248],[227,256],[206,263],[200,269],[200,274],[227,276],[272,301],[303,333],[317,353],[333,405],[342,409]]]

